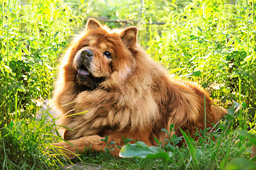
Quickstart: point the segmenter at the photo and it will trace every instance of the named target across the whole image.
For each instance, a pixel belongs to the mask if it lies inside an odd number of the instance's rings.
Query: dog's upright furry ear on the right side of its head
[[[121,39],[126,47],[134,47],[137,42],[137,28],[129,27],[121,32]]]

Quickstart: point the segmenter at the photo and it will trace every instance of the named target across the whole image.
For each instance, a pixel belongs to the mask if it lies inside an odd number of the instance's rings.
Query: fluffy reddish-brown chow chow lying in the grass
[[[62,56],[53,101],[62,114],[62,147],[70,159],[86,149],[104,151],[123,137],[146,145],[164,141],[170,125],[194,137],[196,129],[212,128],[226,113],[213,106],[209,95],[192,82],[170,78],[137,43],[137,28],[110,29],[89,19]],[[205,106],[205,107],[204,107]],[[170,130],[169,130],[170,131]],[[112,145],[111,145],[112,147]]]

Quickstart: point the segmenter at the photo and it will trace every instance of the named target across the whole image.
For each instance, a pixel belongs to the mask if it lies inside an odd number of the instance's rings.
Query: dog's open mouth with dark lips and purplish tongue
[[[77,69],[76,79],[79,85],[86,86],[89,90],[96,89],[104,81],[104,77],[94,77],[85,67]]]

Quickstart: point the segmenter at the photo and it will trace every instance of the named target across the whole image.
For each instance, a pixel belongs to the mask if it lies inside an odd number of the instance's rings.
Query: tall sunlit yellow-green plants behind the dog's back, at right
[[[150,41],[145,45],[155,60],[172,74],[216,90],[213,98],[222,96],[227,103],[242,98],[247,107],[255,108],[255,15],[251,6],[195,1],[180,13],[171,11],[166,21],[161,32],[153,27],[148,32]]]

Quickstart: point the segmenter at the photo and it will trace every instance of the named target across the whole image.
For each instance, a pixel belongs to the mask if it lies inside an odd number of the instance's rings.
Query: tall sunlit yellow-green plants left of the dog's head
[[[0,127],[15,116],[28,118],[42,98],[50,98],[57,56],[73,29],[78,29],[76,24],[82,22],[62,1],[33,3],[0,4]]]

